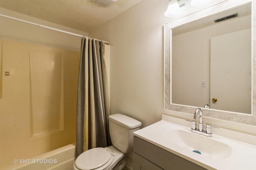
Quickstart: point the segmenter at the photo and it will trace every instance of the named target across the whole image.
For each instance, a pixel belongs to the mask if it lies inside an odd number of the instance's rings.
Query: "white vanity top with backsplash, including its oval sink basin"
[[[256,141],[255,136],[212,127],[212,137],[205,137],[203,135],[192,133],[190,128],[191,122],[186,121],[185,119],[162,115],[161,121],[134,132],[134,135],[206,169],[255,169],[256,162],[254,160],[256,159],[256,145],[255,142],[254,145],[249,144],[253,143],[252,141]],[[187,133],[186,135],[192,135],[195,140],[190,139],[185,140],[188,142],[180,141],[179,143],[176,143],[178,139],[175,138],[174,140],[170,138],[170,135],[177,135],[176,132],[184,132]],[[229,138],[227,138],[227,136]],[[243,142],[234,140],[238,137],[242,139]],[[212,145],[211,147],[207,146],[207,143],[204,143],[204,145],[199,143],[198,147],[201,148],[202,154],[192,152],[195,148],[190,147],[191,142],[200,138],[202,138],[200,141],[210,141],[208,143],[209,145],[211,142],[214,143],[214,145],[216,143],[222,144],[218,145],[218,147],[223,147],[223,149],[219,150],[217,147],[214,151],[212,150],[212,152],[207,152],[207,150],[214,148],[214,146]],[[205,150],[206,152],[204,152]]]

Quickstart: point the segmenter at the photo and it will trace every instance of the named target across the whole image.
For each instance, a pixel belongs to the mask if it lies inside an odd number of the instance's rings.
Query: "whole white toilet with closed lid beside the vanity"
[[[141,122],[122,114],[108,117],[112,146],[93,148],[80,154],[73,170],[122,170],[124,155],[133,148],[133,132],[138,131]]]

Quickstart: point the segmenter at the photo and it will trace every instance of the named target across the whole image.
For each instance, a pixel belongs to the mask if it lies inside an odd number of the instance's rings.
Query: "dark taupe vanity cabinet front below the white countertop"
[[[142,157],[142,158],[141,158]],[[144,160],[146,159],[146,160]],[[176,154],[134,136],[134,170],[206,170]],[[152,168],[151,168],[152,166]]]

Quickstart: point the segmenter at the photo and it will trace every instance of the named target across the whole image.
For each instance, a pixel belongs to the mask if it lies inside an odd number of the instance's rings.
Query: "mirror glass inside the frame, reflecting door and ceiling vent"
[[[250,3],[172,29],[172,104],[251,114],[251,20]]]

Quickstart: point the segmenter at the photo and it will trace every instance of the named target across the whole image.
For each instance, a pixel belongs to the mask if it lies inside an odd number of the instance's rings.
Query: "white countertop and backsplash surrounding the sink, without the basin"
[[[175,123],[173,123],[172,120],[175,120]],[[161,121],[134,132],[134,136],[210,170],[256,170],[256,146],[254,145],[228,139],[216,135],[213,132],[212,137],[210,137],[211,139],[225,143],[232,148],[230,156],[226,158],[218,158],[216,156],[204,156],[202,154],[191,152],[191,150],[175,145],[170,142],[170,140],[167,140],[166,134],[173,129],[190,132],[190,127],[180,125],[180,123],[176,124],[177,122],[182,121],[186,122],[184,119],[163,115]],[[189,123],[190,122],[186,122],[184,124],[188,125]],[[226,130],[226,133],[229,132],[229,130]],[[225,129],[221,129],[221,133],[225,133]],[[236,132],[232,131],[232,133],[233,135],[236,135]],[[237,133],[237,135],[241,134]],[[205,145],[207,145],[207,143]]]

